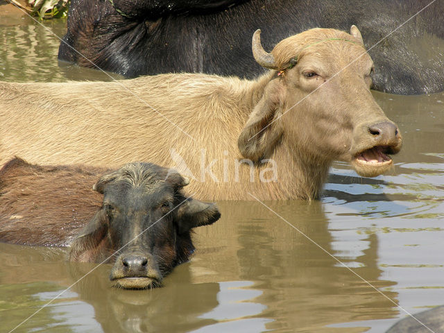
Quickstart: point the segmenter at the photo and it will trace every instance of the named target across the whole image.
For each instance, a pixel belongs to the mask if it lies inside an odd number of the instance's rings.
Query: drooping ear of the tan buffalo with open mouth
[[[268,83],[262,99],[255,105],[237,139],[241,154],[253,162],[271,155],[282,136],[279,118],[282,115],[283,85],[280,78]]]

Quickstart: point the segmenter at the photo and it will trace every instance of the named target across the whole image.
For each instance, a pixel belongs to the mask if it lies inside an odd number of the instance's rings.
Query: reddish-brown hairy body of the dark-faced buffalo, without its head
[[[40,167],[19,158],[0,170],[0,241],[67,246],[101,207],[92,184],[105,169]]]

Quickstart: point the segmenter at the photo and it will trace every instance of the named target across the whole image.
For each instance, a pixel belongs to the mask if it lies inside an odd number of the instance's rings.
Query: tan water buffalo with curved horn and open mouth
[[[400,150],[370,93],[373,62],[351,35],[311,29],[271,53],[253,36],[257,80],[160,74],[108,83],[1,83],[0,164],[113,166],[149,160],[211,200],[318,198],[334,160],[377,176]],[[176,165],[175,165],[176,164]]]

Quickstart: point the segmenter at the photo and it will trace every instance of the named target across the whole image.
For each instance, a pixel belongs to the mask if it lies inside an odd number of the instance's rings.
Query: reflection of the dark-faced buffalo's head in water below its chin
[[[70,266],[76,277],[91,267]],[[94,318],[104,332],[188,332],[214,323],[200,315],[216,307],[219,284],[191,284],[187,264],[178,268],[179,278],[171,277],[166,287],[144,291],[110,288],[109,269],[101,267],[73,288],[80,300],[94,307]]]

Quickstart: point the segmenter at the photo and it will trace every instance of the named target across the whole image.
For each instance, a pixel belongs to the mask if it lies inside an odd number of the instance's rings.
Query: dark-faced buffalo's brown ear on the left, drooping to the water
[[[108,217],[101,209],[71,242],[68,259],[71,262],[94,262],[101,253],[108,234]]]

